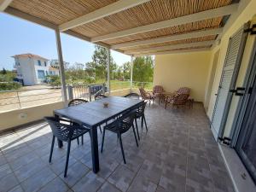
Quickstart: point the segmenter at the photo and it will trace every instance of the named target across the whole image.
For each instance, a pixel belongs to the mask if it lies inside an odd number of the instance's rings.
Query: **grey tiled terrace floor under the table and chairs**
[[[52,164],[48,163],[48,125],[5,133],[0,137],[0,191],[234,191],[201,104],[167,110],[154,105],[146,108],[146,119],[148,132],[141,132],[139,148],[132,131],[124,135],[126,165],[117,137],[106,133],[98,174],[91,172],[89,136],[83,146],[74,141],[67,178],[66,145],[55,145]]]

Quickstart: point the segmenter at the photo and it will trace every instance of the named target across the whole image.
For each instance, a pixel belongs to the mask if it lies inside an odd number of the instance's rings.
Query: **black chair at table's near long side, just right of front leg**
[[[121,147],[121,151],[122,151],[122,155],[123,155],[123,160],[124,160],[124,163],[126,164],[125,153],[124,153],[124,148],[123,148],[123,143],[122,143],[122,137],[121,136],[122,136],[123,133],[125,133],[126,131],[128,131],[132,127],[132,131],[133,131],[135,141],[136,141],[136,144],[137,144],[137,147],[138,147],[135,128],[134,128],[134,125],[133,125],[133,121],[134,121],[135,118],[136,118],[136,111],[131,111],[130,113],[125,113],[124,115],[119,117],[119,119],[116,119],[112,123],[104,126],[103,134],[102,134],[102,149],[101,149],[101,152],[103,151],[105,131],[106,130],[112,131],[112,132],[116,133],[118,138],[119,138],[119,143],[120,143],[120,147]]]

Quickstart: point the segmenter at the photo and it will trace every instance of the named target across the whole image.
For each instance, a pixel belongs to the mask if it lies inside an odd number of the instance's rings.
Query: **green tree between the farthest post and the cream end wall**
[[[154,61],[151,56],[137,57],[133,61],[133,80],[139,82],[152,82]]]

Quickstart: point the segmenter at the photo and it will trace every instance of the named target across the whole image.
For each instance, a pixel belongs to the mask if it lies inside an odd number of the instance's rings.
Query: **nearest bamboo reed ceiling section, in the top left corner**
[[[10,7],[60,25],[118,0],[14,0]]]

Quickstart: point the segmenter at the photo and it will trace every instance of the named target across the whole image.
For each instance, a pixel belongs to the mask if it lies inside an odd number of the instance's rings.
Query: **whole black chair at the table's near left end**
[[[55,117],[44,117],[44,119],[49,123],[49,126],[53,134],[49,154],[49,163],[51,162],[52,158],[52,153],[55,145],[55,137],[57,137],[57,139],[61,140],[62,142],[67,142],[67,159],[64,171],[64,177],[67,177],[67,166],[69,160],[71,141],[83,136],[90,130],[80,125],[67,125],[59,122],[59,120],[67,121],[67,119],[55,119]]]

